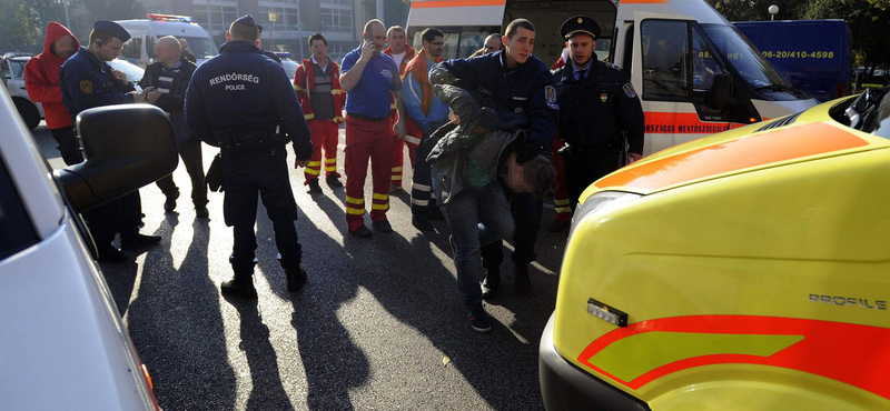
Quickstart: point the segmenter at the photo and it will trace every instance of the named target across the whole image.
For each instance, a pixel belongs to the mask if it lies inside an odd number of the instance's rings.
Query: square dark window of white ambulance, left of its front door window
[[[643,51],[643,98],[689,99],[689,23],[643,20],[640,24]]]

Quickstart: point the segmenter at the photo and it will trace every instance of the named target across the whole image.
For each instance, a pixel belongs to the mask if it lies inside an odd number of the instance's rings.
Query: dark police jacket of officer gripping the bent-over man
[[[533,119],[525,143],[517,149],[521,162],[553,146],[556,132],[557,101],[553,76],[541,59],[530,56],[524,64],[507,69],[504,50],[439,63],[461,80],[469,91],[493,99],[510,112],[522,112]]]

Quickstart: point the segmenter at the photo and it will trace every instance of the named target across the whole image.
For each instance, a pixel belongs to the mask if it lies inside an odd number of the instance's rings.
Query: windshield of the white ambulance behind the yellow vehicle
[[[745,82],[755,89],[792,89],[739,29],[722,24],[702,24],[702,28]]]

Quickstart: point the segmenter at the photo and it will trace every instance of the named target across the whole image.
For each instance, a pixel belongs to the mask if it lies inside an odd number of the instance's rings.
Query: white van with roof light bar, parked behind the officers
[[[123,43],[120,58],[142,68],[155,61],[155,41],[165,36],[186,39],[188,48],[200,66],[219,50],[210,34],[188,16],[148,13],[147,20],[117,20],[132,36]]]

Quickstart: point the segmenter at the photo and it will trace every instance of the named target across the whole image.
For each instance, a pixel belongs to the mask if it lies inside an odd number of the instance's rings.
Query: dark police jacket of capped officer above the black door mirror
[[[62,64],[59,70],[62,101],[71,119],[77,119],[77,114],[87,109],[134,101],[129,92],[136,89],[116,81],[112,71],[107,62],[99,61],[96,54],[82,47]]]

